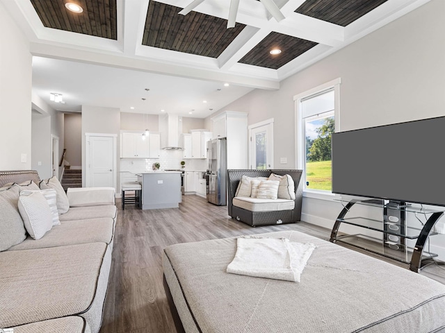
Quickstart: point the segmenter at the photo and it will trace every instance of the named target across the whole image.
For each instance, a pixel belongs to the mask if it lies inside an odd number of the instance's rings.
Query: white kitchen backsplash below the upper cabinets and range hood
[[[120,171],[140,172],[152,170],[155,162],[161,164],[161,170],[181,169],[181,161],[186,162],[185,170],[206,170],[207,160],[190,160],[182,157],[182,151],[161,150],[159,158],[121,158]]]

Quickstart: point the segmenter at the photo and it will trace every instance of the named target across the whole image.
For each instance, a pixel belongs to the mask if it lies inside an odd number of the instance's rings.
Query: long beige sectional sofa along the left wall
[[[0,328],[97,333],[111,267],[115,190],[96,190],[89,201],[94,189],[68,189],[65,197],[58,191],[58,202],[69,205],[57,208],[67,212],[36,240],[20,225],[18,202],[21,191],[36,190],[39,182],[35,171],[0,171]]]

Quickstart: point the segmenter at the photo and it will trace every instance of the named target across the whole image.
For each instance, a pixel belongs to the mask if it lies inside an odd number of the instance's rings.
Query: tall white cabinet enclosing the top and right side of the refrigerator
[[[225,111],[211,121],[213,139],[227,138],[227,168],[248,169],[248,113]]]

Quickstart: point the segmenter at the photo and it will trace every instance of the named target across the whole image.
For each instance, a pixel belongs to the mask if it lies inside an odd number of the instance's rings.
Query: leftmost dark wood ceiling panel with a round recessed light
[[[63,0],[31,0],[40,21],[47,28],[118,39],[116,0],[78,0],[83,12],[65,8]]]

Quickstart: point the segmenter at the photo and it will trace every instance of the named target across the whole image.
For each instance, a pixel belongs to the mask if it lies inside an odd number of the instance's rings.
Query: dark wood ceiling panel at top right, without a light
[[[296,12],[347,26],[387,0],[307,0]]]

